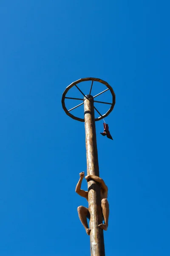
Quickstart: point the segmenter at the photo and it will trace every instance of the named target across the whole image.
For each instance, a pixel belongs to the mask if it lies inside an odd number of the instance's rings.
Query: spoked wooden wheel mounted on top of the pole
[[[77,86],[77,84],[83,82],[83,81],[92,81],[91,82],[91,88],[90,88],[90,92],[88,94],[84,94],[82,92],[82,90],[80,90],[80,88]],[[93,84],[94,82],[99,82],[99,83],[102,83],[102,84],[105,84],[105,86],[107,87],[106,90],[102,91],[101,93],[98,93],[97,95],[95,96],[91,96],[91,90],[92,90],[92,87],[93,87]],[[95,83],[96,84],[96,83]],[[72,87],[77,87],[77,90],[79,90],[79,92],[82,94],[82,97],[81,99],[79,98],[73,98],[73,97],[67,97],[66,94],[68,93],[68,90],[70,90]],[[96,98],[97,96],[99,96],[100,94],[102,93],[105,93],[106,91],[110,90],[111,92],[111,95],[112,95],[112,102],[99,102],[99,101],[96,101],[94,98]],[[67,109],[66,106],[65,106],[65,99],[74,99],[74,100],[80,100],[82,101],[82,103],[80,103],[79,105],[75,106],[74,108],[71,108],[71,109]],[[106,116],[108,116],[111,111],[113,110],[114,108],[114,105],[115,105],[115,93],[113,91],[113,88],[111,87],[111,85],[109,85],[106,81],[102,80],[102,79],[99,79],[99,78],[93,78],[93,77],[87,77],[87,78],[82,78],[82,79],[79,79],[75,82],[73,82],[72,84],[68,85],[68,87],[65,89],[64,93],[62,94],[62,108],[64,109],[65,113],[70,116],[71,118],[77,120],[77,121],[80,121],[80,122],[85,122],[85,119],[83,118],[79,118],[77,116],[74,116],[73,114],[71,114],[70,112],[72,110],[74,110],[75,108],[78,108],[79,106],[83,105],[84,104],[84,100],[85,99],[93,99],[94,100],[94,103],[95,102],[99,102],[99,103],[104,103],[104,104],[108,104],[110,105],[110,108],[109,110],[105,113],[105,114],[100,114],[99,111],[96,109],[96,107],[94,106],[94,109],[99,113],[99,117],[98,118],[95,118],[95,121],[99,121],[103,118],[105,118]]]

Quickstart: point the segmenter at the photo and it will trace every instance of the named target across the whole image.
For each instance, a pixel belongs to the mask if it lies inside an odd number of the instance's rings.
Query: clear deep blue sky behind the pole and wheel
[[[116,93],[105,119],[113,141],[96,122],[109,188],[106,256],[170,255],[169,8],[166,0],[0,1],[0,256],[90,255],[77,215],[87,202],[75,193],[86,172],[84,123],[61,105],[65,88],[88,76]]]

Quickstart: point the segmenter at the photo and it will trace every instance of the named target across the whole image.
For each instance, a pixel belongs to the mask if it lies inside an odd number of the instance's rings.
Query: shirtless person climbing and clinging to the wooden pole
[[[80,172],[80,178],[79,181],[77,183],[76,186],[76,193],[84,198],[87,199],[88,201],[88,191],[82,190],[81,189],[81,185],[82,185],[82,180],[85,176],[84,172]],[[88,181],[90,178],[92,178],[93,180],[95,180],[96,182],[100,183],[101,186],[101,190],[100,190],[100,194],[101,194],[101,207],[102,207],[102,214],[103,214],[103,218],[105,223],[104,224],[99,224],[99,228],[101,228],[102,230],[107,230],[108,229],[108,218],[109,218],[109,204],[108,204],[108,187],[106,186],[104,180],[102,180],[100,177],[98,176],[94,176],[94,175],[87,175],[85,176],[85,179]],[[90,235],[91,229],[89,229],[88,227],[88,222],[87,222],[87,218],[90,219],[90,212],[88,211],[88,208],[84,207],[84,206],[79,206],[77,208],[78,210],[78,214],[79,214],[79,219],[82,222],[83,226],[85,227],[86,233],[88,235]]]

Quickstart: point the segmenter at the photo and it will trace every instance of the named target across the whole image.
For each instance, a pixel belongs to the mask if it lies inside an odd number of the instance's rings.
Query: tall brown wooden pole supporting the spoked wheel
[[[99,176],[99,163],[96,143],[96,126],[94,117],[94,99],[86,95],[84,99],[85,111],[85,143],[88,175]],[[94,180],[88,181],[88,205],[90,218],[90,246],[91,256],[105,256],[103,230],[98,225],[102,223],[102,208],[100,186]]]

